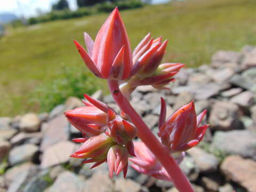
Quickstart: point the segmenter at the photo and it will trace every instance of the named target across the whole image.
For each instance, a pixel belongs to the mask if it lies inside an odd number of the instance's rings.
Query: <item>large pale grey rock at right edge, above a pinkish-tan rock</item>
[[[213,150],[221,150],[225,154],[237,154],[256,160],[255,146],[256,135],[248,130],[217,131],[211,143]]]

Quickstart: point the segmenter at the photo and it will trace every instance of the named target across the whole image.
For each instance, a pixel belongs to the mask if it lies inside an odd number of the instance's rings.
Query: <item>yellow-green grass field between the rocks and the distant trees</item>
[[[245,44],[256,45],[255,0],[188,0],[121,15],[132,47],[149,31],[154,37],[162,35],[170,40],[164,61],[189,67],[209,63],[220,49],[238,51]],[[106,17],[99,14],[7,30],[0,39],[0,116],[39,111],[41,98],[28,103],[31,93],[61,79],[63,66],[86,71],[72,39],[83,43],[83,31],[95,37]]]

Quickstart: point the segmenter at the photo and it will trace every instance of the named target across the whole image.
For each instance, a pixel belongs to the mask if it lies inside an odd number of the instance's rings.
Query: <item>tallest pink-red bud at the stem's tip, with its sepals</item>
[[[131,46],[117,7],[100,28],[95,42],[86,33],[84,37],[88,53],[78,42],[74,43],[86,66],[96,76],[116,79],[130,76]]]

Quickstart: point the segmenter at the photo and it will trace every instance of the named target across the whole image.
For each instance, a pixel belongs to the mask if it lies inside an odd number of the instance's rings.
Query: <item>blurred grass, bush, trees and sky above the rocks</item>
[[[196,67],[217,50],[256,44],[254,0],[1,1],[0,115],[50,111],[70,95],[102,88],[73,39],[83,43],[83,31],[95,38],[115,6],[133,48],[148,32],[170,40],[164,61]]]

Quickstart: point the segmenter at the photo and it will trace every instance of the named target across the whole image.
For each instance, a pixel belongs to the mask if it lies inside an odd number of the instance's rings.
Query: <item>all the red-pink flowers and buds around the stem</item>
[[[86,66],[97,77],[117,82],[118,88],[111,90],[110,87],[110,91],[113,94],[121,92],[125,96],[121,97],[122,101],[129,99],[132,91],[140,85],[169,89],[166,85],[174,81],[173,76],[184,66],[181,63],[161,64],[167,46],[167,40],[162,42],[162,37],[154,39],[150,34],[146,35],[132,53],[117,8],[99,30],[95,42],[86,33],[84,38],[87,52],[78,42],[74,42]],[[71,157],[85,158],[84,163],[94,163],[92,167],[107,162],[110,177],[122,170],[125,176],[129,159],[131,166],[140,173],[167,181],[173,180],[170,172],[166,171],[145,143],[133,143],[132,139],[137,135],[139,127],[139,123],[135,127],[135,123],[131,121],[139,118],[134,115],[133,109],[127,108],[127,114],[121,111],[117,115],[105,103],[86,94],[84,97],[87,100],[84,101],[85,107],[65,113],[69,122],[83,134],[83,138],[73,140],[82,143],[82,146]],[[119,106],[120,103],[122,102],[119,102]],[[194,103],[190,102],[166,119],[164,99],[161,104],[158,136],[162,144],[159,145],[166,149],[163,153],[180,163],[184,151],[196,146],[209,126],[200,126],[206,110],[196,116]],[[133,115],[133,118],[129,115]]]

